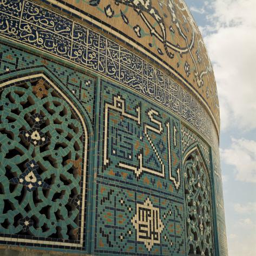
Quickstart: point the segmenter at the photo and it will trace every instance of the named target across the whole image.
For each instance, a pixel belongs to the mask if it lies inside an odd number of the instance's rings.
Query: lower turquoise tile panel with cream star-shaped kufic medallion
[[[95,253],[186,255],[182,203],[106,181],[96,191]]]

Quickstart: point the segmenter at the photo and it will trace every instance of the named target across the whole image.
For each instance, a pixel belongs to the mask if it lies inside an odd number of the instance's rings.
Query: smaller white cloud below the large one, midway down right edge
[[[229,148],[220,149],[222,161],[234,166],[239,181],[256,183],[256,141],[234,139]]]

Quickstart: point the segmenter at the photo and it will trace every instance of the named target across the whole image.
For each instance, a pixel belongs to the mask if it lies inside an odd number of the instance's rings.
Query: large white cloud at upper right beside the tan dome
[[[256,1],[216,0],[204,29],[214,67],[221,128],[256,128]],[[208,31],[208,33],[207,33]]]

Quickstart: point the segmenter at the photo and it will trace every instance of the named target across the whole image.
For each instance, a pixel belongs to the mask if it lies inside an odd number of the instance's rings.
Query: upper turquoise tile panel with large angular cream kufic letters
[[[132,90],[101,82],[98,178],[183,199],[180,122]]]

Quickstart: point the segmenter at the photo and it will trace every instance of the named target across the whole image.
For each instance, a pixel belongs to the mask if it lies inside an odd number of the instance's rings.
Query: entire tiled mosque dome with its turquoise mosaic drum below
[[[211,62],[183,0],[0,2],[0,254],[228,256]]]

